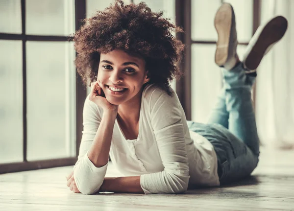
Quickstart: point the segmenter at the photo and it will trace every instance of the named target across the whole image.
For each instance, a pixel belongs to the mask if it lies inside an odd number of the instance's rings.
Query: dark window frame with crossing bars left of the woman
[[[86,18],[86,0],[74,1],[75,13],[75,30],[81,27],[81,20]],[[76,156],[58,159],[48,159],[39,161],[27,161],[27,121],[26,121],[26,41],[45,41],[45,42],[71,42],[71,36],[49,36],[49,35],[27,35],[25,34],[25,0],[21,0],[21,13],[22,13],[22,34],[0,33],[0,40],[21,40],[23,51],[23,162],[4,163],[0,164],[0,174],[9,172],[18,172],[25,170],[34,170],[41,168],[50,168],[58,166],[73,165],[77,161],[79,145],[82,137],[82,110],[84,101],[86,99],[86,88],[83,86],[79,74],[76,72]]]

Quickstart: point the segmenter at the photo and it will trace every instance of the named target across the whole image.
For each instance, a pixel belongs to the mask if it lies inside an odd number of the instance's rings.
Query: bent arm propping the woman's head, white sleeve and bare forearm
[[[101,120],[95,118],[93,109],[85,103],[84,131],[79,159],[74,165],[73,176],[81,193],[93,194],[103,183],[111,145],[116,113],[104,111]],[[97,129],[98,128],[98,129]],[[95,132],[96,130],[96,132]]]

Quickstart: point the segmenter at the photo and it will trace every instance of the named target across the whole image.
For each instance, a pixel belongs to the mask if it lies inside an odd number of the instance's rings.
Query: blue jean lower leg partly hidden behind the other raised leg
[[[223,127],[228,128],[228,119],[229,113],[227,112],[225,104],[225,89],[221,89],[221,92],[217,98],[217,102],[209,114],[207,123],[220,124]]]

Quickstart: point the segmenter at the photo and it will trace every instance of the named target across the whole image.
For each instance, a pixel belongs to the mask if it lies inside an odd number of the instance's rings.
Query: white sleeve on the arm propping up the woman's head
[[[76,187],[84,194],[93,194],[98,191],[103,183],[108,165],[107,163],[104,166],[96,167],[88,157],[88,150],[101,122],[100,112],[98,106],[87,96],[83,108],[82,140],[78,160],[73,167]]]

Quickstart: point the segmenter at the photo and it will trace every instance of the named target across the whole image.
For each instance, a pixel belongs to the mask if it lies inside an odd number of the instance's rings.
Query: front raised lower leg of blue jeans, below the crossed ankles
[[[222,70],[228,129],[245,142],[255,155],[259,155],[255,114],[251,101],[251,88],[255,77],[247,76],[242,63],[232,70]]]

